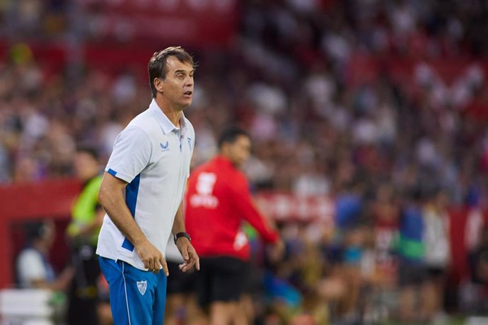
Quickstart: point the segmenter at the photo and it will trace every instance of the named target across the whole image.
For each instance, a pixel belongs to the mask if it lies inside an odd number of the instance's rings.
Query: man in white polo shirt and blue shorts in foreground
[[[107,214],[97,254],[117,325],[163,324],[171,232],[180,269],[199,269],[182,216],[194,148],[182,111],[192,103],[194,62],[181,47],[168,47],[153,54],[148,71],[151,105],[115,139],[98,193]]]

